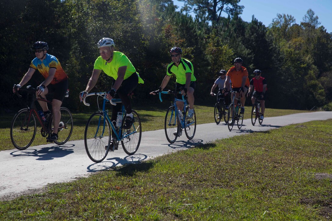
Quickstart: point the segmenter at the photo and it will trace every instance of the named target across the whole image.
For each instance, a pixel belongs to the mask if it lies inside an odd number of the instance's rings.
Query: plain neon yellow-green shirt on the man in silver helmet
[[[130,77],[133,73],[137,73],[136,69],[131,64],[127,56],[125,56],[124,53],[120,51],[114,51],[113,59],[110,63],[106,63],[106,60],[104,60],[102,56],[99,56],[95,61],[94,69],[103,70],[105,74],[113,77],[114,80],[117,80],[119,67],[122,66],[127,66],[127,69],[124,74],[124,80]],[[139,75],[138,75],[138,83],[141,84],[144,83],[143,79],[141,79]]]

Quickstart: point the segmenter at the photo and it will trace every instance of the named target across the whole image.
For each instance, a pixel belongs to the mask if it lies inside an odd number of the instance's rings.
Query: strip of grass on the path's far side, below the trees
[[[161,103],[158,106],[145,106],[141,108],[134,109],[138,112],[141,123],[142,131],[158,130],[164,128],[164,120],[167,108],[170,106],[170,103]],[[195,112],[197,117],[197,123],[213,123],[214,122],[214,104],[210,107],[208,106],[195,106]],[[250,118],[251,107],[246,107],[244,118]],[[273,117],[280,115],[287,115],[292,113],[299,112],[309,112],[309,111],[299,111],[299,110],[280,110],[280,109],[266,109],[265,117]],[[85,124],[88,121],[92,112],[89,113],[72,113],[74,127],[73,133],[69,140],[82,140],[84,139],[84,130]],[[10,141],[10,124],[14,117],[15,113],[7,113],[0,116],[1,121],[1,130],[0,130],[0,151],[1,150],[10,150],[14,146]],[[46,138],[42,137],[40,134],[41,127],[39,122],[37,122],[37,133],[35,140],[31,146],[37,146],[41,144],[46,144]]]

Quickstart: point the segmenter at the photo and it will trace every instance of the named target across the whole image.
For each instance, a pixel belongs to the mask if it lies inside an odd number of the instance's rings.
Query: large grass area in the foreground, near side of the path
[[[325,220],[332,119],[217,140],[42,194],[0,202],[0,220]]]

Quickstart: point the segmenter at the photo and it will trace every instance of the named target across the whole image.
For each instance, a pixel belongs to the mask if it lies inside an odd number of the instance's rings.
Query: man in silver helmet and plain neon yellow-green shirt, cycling
[[[143,84],[144,81],[139,77],[136,69],[124,53],[115,51],[115,43],[112,38],[104,37],[97,43],[100,56],[96,59],[92,76],[85,88],[79,95],[80,100],[86,96],[89,91],[96,85],[99,75],[102,71],[108,76],[114,78],[115,82],[106,98],[119,97],[126,110],[126,118],[124,129],[129,129],[134,121],[131,109],[130,94],[137,87],[138,83]],[[112,108],[111,121],[116,122],[117,112],[121,112],[121,104],[117,104]],[[114,132],[112,131],[112,134]]]

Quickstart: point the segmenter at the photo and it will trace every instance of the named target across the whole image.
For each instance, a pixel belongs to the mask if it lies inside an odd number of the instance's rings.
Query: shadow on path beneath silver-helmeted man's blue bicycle
[[[112,167],[116,167],[119,165],[125,164],[135,164],[141,162],[147,158],[144,154],[133,154],[130,156],[126,156],[123,159],[120,157],[108,158],[107,161],[103,161],[100,163],[94,163],[87,167],[87,172],[94,173],[98,171],[108,170]]]

